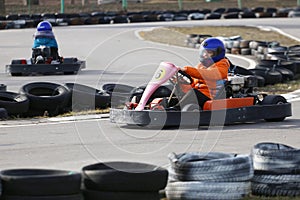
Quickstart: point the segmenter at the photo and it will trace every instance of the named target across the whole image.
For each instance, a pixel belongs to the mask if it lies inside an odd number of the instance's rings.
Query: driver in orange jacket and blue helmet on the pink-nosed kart
[[[214,99],[220,85],[227,80],[229,60],[225,57],[224,43],[217,38],[207,38],[199,49],[200,62],[197,66],[185,66],[182,71],[192,78],[191,85],[182,88],[186,94],[180,100],[181,106],[194,103],[203,108],[207,100]]]

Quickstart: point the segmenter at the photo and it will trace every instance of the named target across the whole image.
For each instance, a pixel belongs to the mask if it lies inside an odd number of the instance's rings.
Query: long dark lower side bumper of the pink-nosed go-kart
[[[277,121],[276,119],[291,115],[291,103],[253,105],[222,110],[201,110],[199,112],[110,109],[110,121],[112,123],[149,127],[229,125],[261,119]]]

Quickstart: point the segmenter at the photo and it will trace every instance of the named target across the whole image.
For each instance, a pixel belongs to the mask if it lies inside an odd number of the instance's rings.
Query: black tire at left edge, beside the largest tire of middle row
[[[0,91],[0,108],[5,108],[8,115],[21,115],[29,109],[29,99],[24,94]]]

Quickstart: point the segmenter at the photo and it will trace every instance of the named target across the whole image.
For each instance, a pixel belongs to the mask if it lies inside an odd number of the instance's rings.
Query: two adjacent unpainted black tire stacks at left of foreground
[[[137,162],[106,162],[81,172],[7,169],[0,172],[1,200],[159,200],[168,171]]]

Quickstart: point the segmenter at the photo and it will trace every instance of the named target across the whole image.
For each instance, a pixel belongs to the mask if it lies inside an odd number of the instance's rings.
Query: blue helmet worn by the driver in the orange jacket
[[[200,46],[200,62],[207,62],[208,58],[205,58],[204,53],[210,52],[209,59],[211,62],[218,62],[225,58],[225,46],[224,43],[214,37],[207,38],[201,43]]]

